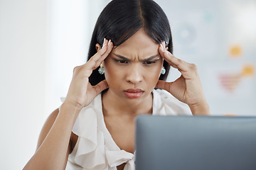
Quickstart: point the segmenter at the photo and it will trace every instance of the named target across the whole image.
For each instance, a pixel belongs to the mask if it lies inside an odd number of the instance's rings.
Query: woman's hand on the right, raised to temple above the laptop
[[[159,53],[171,67],[181,72],[181,77],[173,82],[159,80],[156,88],[169,91],[179,101],[188,104],[193,115],[210,115],[196,65],[174,57],[171,52],[166,50],[164,42],[159,45]]]

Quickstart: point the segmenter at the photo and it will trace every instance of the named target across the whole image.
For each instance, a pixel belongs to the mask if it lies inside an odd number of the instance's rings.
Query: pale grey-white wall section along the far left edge
[[[47,4],[0,3],[1,169],[21,169],[45,119]]]

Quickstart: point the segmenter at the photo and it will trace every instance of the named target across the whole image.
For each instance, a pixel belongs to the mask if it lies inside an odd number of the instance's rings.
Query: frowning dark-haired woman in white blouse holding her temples
[[[196,66],[172,50],[169,21],[154,1],[111,1],[97,20],[89,60],[75,67],[24,169],[134,169],[137,115],[209,115]],[[171,83],[164,81],[170,65],[181,72]]]

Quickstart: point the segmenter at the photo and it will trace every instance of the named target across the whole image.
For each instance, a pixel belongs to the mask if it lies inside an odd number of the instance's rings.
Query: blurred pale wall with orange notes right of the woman
[[[174,55],[198,66],[212,115],[256,115],[256,1],[156,1],[169,17]],[[171,69],[169,80],[178,76]]]

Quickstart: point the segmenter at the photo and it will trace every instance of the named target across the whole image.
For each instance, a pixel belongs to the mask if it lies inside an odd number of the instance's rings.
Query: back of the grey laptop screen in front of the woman
[[[256,117],[139,115],[136,170],[255,170]]]

